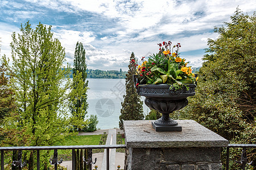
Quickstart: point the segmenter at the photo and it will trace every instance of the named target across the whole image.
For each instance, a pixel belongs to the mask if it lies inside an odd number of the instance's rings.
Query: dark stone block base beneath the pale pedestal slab
[[[220,148],[128,148],[127,162],[127,169],[222,169]]]

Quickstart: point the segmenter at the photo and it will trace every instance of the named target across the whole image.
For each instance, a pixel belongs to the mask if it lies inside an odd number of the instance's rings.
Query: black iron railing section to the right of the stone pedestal
[[[227,150],[226,150],[226,170],[229,170],[229,148],[232,148],[232,147],[243,148],[242,154],[241,154],[241,160],[238,163],[240,163],[242,169],[245,170],[246,164],[252,163],[252,162],[247,163],[246,148],[255,148],[256,144],[229,144],[229,146],[227,147]]]

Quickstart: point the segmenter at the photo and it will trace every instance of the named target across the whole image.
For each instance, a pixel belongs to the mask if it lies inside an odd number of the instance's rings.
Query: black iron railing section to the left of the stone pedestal
[[[30,147],[0,147],[1,151],[1,170],[4,170],[4,151],[19,151],[18,160],[13,164],[21,169],[26,163],[22,162],[22,151],[32,150],[36,151],[36,168],[40,169],[40,150],[54,150],[53,158],[50,159],[50,163],[54,165],[54,169],[57,169],[57,164],[60,164],[62,160],[58,161],[57,150],[72,150],[72,169],[75,169],[74,153],[76,149],[89,149],[89,156],[87,160],[84,160],[89,164],[89,169],[92,169],[92,150],[93,149],[106,149],[106,169],[109,170],[109,150],[111,148],[126,148],[126,145],[81,145],[81,146],[30,146]]]

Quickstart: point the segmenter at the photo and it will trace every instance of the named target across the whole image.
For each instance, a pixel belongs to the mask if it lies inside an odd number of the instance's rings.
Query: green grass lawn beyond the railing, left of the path
[[[101,135],[76,135],[65,139],[62,143],[56,143],[56,146],[99,145],[100,139]],[[72,150],[58,150],[58,155],[68,154],[71,152]],[[50,154],[53,155],[53,150],[51,150]]]

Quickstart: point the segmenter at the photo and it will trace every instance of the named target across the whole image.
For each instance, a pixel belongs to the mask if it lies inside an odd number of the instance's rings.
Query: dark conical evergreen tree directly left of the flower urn
[[[121,103],[121,115],[119,116],[119,128],[123,129],[124,120],[143,120],[143,102],[141,97],[137,94],[134,87],[133,75],[136,73],[135,65],[137,60],[134,53],[131,53],[130,64],[128,66],[129,71],[126,74],[125,86],[126,94],[123,95],[123,102]]]

